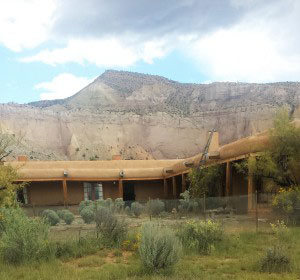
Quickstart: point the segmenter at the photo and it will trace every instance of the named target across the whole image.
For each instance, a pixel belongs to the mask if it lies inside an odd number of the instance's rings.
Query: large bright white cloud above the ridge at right
[[[274,82],[300,79],[297,25],[300,5],[287,13],[274,10],[251,14],[242,22],[199,39],[187,40],[188,53],[214,81]],[[280,13],[279,13],[280,12]],[[276,15],[276,21],[272,21]]]

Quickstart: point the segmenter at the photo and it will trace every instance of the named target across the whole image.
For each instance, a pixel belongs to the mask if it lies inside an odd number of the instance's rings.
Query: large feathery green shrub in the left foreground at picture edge
[[[11,264],[50,259],[55,250],[49,245],[49,225],[40,218],[29,218],[21,209],[2,211],[3,232],[0,253]]]

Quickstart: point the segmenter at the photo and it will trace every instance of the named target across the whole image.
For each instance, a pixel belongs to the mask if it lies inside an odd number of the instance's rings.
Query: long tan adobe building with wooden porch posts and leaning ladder
[[[226,169],[223,196],[247,195],[253,207],[255,182],[238,173],[233,162],[263,150],[267,133],[240,139],[219,147],[218,133],[211,139],[205,165],[222,164]],[[83,200],[123,198],[146,201],[178,199],[188,187],[187,174],[197,167],[201,154],[176,160],[27,161],[6,162],[18,169],[20,182],[28,182],[23,202],[36,206],[76,205]],[[246,206],[247,207],[247,206]]]

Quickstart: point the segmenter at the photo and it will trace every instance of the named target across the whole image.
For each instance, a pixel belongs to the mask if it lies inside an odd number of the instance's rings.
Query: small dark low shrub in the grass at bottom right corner
[[[291,261],[280,247],[269,248],[260,260],[260,270],[263,272],[288,272],[291,270]]]

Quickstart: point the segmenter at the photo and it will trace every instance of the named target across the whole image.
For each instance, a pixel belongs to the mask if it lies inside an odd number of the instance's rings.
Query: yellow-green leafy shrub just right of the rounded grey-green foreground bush
[[[187,222],[178,236],[187,250],[209,254],[212,247],[223,238],[223,230],[218,223],[207,221]]]

